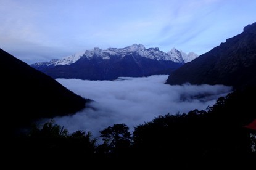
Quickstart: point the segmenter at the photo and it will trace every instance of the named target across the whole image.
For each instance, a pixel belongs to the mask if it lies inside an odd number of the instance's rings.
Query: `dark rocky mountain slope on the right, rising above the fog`
[[[175,70],[167,84],[256,84],[256,23],[225,43]]]

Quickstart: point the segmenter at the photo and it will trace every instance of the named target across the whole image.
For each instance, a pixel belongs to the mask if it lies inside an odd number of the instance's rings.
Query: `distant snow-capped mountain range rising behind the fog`
[[[159,48],[146,49],[142,44],[133,44],[105,50],[95,47],[63,59],[38,62],[31,67],[53,78],[116,79],[119,76],[169,74],[195,57],[194,53],[186,54],[175,48],[163,52]]]

